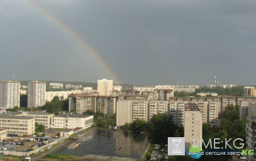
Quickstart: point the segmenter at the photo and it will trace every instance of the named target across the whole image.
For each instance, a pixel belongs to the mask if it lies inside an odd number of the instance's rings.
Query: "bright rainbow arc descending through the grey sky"
[[[44,15],[46,18],[51,20],[57,27],[61,28],[64,33],[68,33],[68,35],[72,37],[73,40],[77,41],[77,43],[81,45],[82,49],[85,49],[86,51],[88,51],[102,65],[102,67],[104,67],[108,71],[110,76],[113,78],[114,82],[118,84],[121,83],[120,79],[117,77],[117,75],[115,75],[114,71],[111,69],[108,63],[105,62],[104,59],[101,57],[101,55],[97,53],[96,50],[94,50],[92,46],[90,46],[86,42],[86,40],[83,37],[81,37],[75,30],[68,27],[56,16],[51,15],[48,11],[42,9],[42,7],[36,5],[36,3],[31,2],[30,0],[23,0],[23,2],[26,2],[29,6],[34,8],[40,14]]]

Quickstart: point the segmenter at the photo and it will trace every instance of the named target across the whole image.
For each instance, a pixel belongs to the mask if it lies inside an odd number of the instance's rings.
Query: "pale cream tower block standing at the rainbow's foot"
[[[100,96],[111,96],[111,92],[113,90],[113,80],[98,80],[97,90]]]

